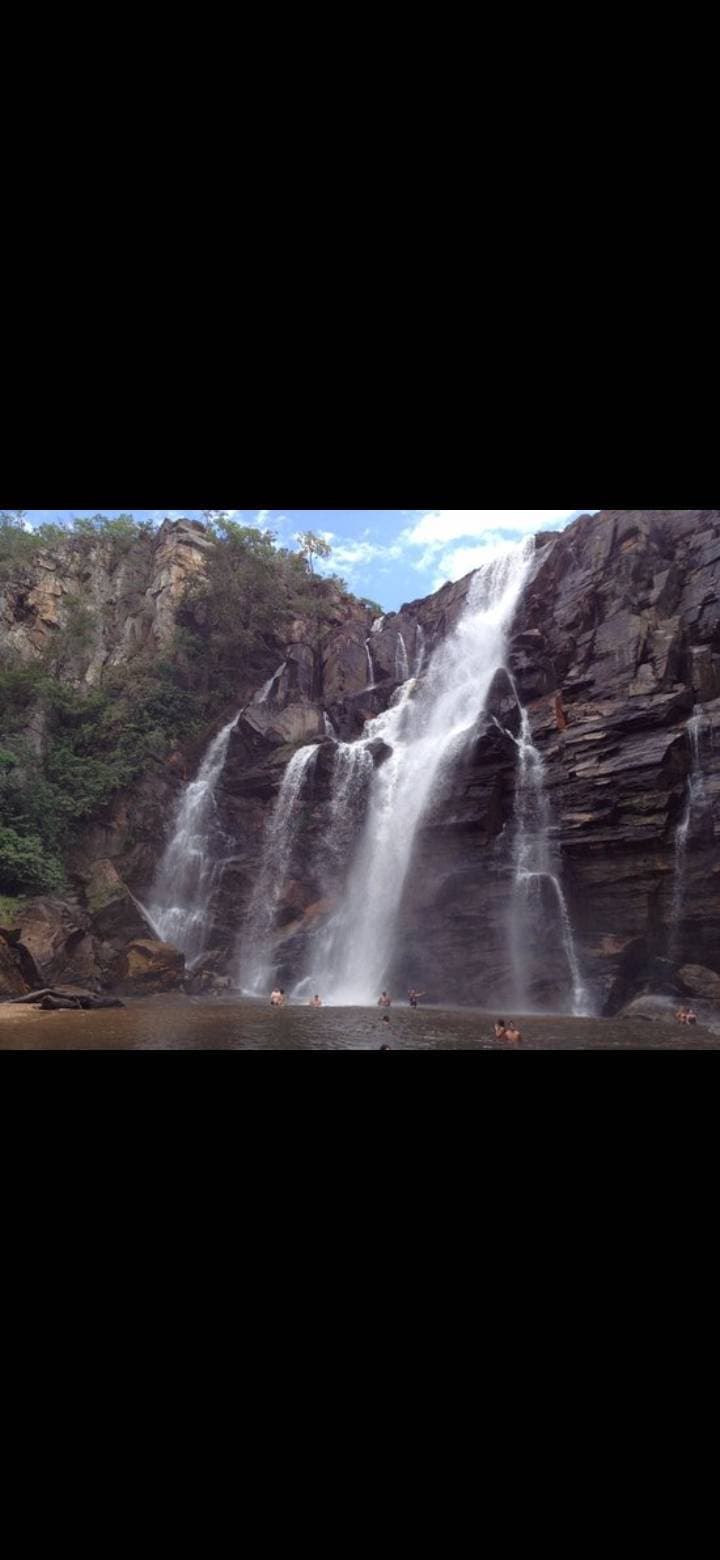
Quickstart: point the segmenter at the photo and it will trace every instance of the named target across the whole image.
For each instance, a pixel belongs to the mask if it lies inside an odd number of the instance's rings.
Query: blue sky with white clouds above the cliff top
[[[69,521],[95,510],[28,510],[26,523]],[[117,509],[103,510],[115,516]],[[196,509],[134,509],[136,519],[201,519]],[[475,569],[497,543],[535,530],[561,530],[594,510],[578,509],[260,509],[223,510],[248,526],[274,530],[282,546],[296,546],[299,530],[316,530],[330,543],[324,573],[341,574],[357,596],[371,596],[385,612],[427,596],[446,580]]]

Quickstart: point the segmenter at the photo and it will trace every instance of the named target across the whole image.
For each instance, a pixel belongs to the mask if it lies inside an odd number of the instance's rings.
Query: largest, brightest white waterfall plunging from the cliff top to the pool
[[[432,655],[422,683],[408,679],[355,747],[390,749],[372,771],[365,825],[341,903],[312,950],[315,991],[335,1003],[374,1002],[391,966],[402,891],[418,828],[438,778],[471,736],[533,557],[533,541],[480,568],[464,612]]]

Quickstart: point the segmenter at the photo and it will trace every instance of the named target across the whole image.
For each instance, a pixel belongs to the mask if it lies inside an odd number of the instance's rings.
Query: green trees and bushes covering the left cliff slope
[[[217,512],[206,519],[215,541],[207,576],[190,588],[165,658],[139,649],[106,669],[100,688],[73,686],[98,629],[81,596],[64,597],[64,626],[37,660],[0,657],[0,892],[61,889],[65,855],[83,828],[108,816],[118,791],[179,743],[207,730],[237,699],[240,669],[248,680],[266,677],[268,654],[293,619],[309,622],[310,638],[337,621],[344,582],[313,574],[313,558],[330,554],[323,538],[307,532],[293,552],[276,546],[270,530]],[[30,532],[22,512],[0,512],[0,587],[25,583],[39,546],[94,541],[108,548],[112,569],[151,534],[131,515]],[[372,602],[371,610],[382,608]]]

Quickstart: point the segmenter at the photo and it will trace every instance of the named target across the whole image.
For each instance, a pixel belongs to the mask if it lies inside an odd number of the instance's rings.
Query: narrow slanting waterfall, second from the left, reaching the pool
[[[305,775],[318,757],[318,743],[299,747],[282,775],[277,800],[265,825],[263,852],[256,886],[238,939],[237,980],[245,989],[260,994],[273,972],[271,941],[277,906],[288,875],[293,846],[302,817],[299,796]]]

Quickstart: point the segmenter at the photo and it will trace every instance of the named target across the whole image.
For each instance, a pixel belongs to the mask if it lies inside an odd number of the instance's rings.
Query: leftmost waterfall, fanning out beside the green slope
[[[175,814],[173,831],[150,891],[148,919],[164,942],[173,942],[193,964],[207,947],[207,905],[223,869],[224,838],[215,786],[223,772],[235,714],[214,736],[198,775],[185,786]]]

